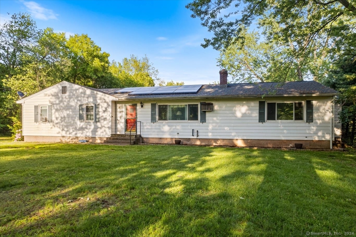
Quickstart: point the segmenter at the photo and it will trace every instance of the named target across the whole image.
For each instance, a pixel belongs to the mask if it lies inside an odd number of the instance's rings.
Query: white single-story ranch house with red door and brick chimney
[[[25,97],[25,141],[332,148],[337,91],[315,81],[93,89],[62,81]],[[136,124],[137,123],[137,124]],[[137,137],[137,138],[135,138]],[[126,141],[125,141],[126,140]]]

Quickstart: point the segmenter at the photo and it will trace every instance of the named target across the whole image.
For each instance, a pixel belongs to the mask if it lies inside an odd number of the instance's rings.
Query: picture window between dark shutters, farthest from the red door
[[[267,120],[304,120],[303,102],[267,102]]]

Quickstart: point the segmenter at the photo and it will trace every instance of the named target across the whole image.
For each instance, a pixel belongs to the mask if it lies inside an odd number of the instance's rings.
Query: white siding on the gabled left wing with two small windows
[[[62,86],[67,93],[62,94]],[[75,84],[57,84],[53,88],[28,98],[23,103],[24,136],[110,137],[111,100],[109,95]],[[51,123],[35,123],[34,105],[52,105]],[[79,122],[79,104],[100,104],[100,122]],[[40,109],[38,111],[40,114]]]

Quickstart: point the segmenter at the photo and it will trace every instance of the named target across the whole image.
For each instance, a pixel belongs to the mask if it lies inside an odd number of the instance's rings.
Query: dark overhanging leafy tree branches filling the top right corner
[[[356,9],[347,0],[242,2],[194,0],[186,6],[193,11],[192,17],[199,17],[201,25],[214,33],[211,39],[204,39],[201,46],[227,50],[237,45],[240,47],[237,49],[242,49],[248,40],[244,29],[256,23],[263,28],[268,44],[280,42],[284,49],[288,48],[278,64],[286,68],[288,64],[295,65],[298,80],[303,79],[303,74],[312,74],[311,77],[318,79],[325,75],[320,67],[327,69],[329,62],[340,55],[355,56]]]

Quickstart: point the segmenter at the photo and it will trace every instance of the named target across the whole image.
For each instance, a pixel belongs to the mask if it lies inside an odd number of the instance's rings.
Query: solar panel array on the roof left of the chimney
[[[129,93],[129,95],[187,94],[197,93],[201,86],[202,85],[129,87],[115,91],[115,93]]]

